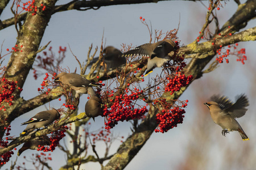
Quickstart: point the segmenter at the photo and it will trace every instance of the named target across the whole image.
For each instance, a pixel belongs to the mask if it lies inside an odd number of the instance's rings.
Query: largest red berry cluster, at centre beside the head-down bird
[[[112,103],[110,108],[105,104],[103,116],[105,116],[108,121],[105,122],[105,129],[113,128],[117,125],[118,121],[133,120],[134,118],[141,117],[143,114],[148,112],[146,107],[134,108],[135,104],[133,104],[133,101],[135,100],[136,102],[139,99],[139,95],[143,92],[139,91],[137,88],[134,88],[134,90],[135,92],[131,91],[131,94],[127,95],[129,93],[129,89],[126,88],[125,95],[120,94],[115,96],[114,102],[113,99],[110,99],[110,103]],[[113,96],[114,91],[111,93],[112,94],[109,94],[107,91],[109,98]]]

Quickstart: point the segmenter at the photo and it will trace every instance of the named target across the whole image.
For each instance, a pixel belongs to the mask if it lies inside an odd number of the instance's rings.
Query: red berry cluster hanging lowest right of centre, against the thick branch
[[[173,109],[163,109],[162,114],[156,114],[156,121],[158,122],[158,128],[155,132],[167,132],[168,130],[177,127],[177,124],[182,124],[185,111],[179,107]]]

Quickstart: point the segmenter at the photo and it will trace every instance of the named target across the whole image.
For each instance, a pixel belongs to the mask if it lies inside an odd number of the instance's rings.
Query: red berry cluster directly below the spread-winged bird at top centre
[[[176,75],[174,78],[167,77],[169,83],[166,85],[164,91],[171,91],[170,95],[172,95],[175,91],[179,91],[181,87],[187,86],[192,79],[193,75],[185,76],[184,74]]]

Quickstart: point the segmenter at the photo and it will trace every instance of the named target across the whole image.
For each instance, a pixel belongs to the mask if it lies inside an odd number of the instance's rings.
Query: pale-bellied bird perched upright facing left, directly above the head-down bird
[[[79,97],[80,94],[87,94],[87,88],[92,86],[100,86],[102,84],[92,83],[90,80],[84,78],[80,74],[65,73],[62,72],[55,77],[55,82],[61,82],[61,84],[68,85],[75,90],[75,97]]]

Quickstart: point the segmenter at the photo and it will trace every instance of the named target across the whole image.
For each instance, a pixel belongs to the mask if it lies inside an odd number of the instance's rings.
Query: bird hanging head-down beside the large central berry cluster
[[[88,117],[92,117],[94,121],[94,117],[101,114],[102,101],[92,87],[88,87],[88,93],[90,94],[90,99],[85,104],[85,114]]]

